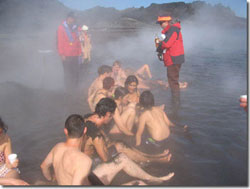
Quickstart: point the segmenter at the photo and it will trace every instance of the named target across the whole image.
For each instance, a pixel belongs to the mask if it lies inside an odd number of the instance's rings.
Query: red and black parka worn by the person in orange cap
[[[180,23],[168,25],[162,30],[165,39],[162,41],[163,61],[165,66],[184,63],[184,47]]]

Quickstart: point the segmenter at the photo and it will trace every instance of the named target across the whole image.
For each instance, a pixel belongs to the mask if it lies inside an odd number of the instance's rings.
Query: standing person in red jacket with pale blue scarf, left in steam
[[[65,89],[69,93],[74,91],[78,84],[81,55],[81,44],[73,12],[70,12],[58,27],[57,50],[63,63]]]

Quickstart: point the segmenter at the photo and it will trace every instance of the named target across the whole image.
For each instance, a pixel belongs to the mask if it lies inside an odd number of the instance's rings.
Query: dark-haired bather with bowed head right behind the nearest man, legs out
[[[83,142],[82,151],[92,157],[96,152],[102,161],[107,162],[112,155],[117,152],[125,153],[130,159],[136,162],[169,162],[171,154],[168,150],[161,154],[150,155],[142,153],[135,148],[126,146],[123,142],[110,141],[109,137],[102,130],[113,118],[116,109],[116,103],[113,99],[103,98],[98,102],[93,114],[85,115],[85,121],[92,122],[92,127],[88,128],[86,139]],[[114,148],[112,148],[114,147]],[[113,154],[111,150],[115,150]]]

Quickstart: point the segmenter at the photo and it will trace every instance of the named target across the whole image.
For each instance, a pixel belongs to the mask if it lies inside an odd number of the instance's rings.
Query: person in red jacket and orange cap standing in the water
[[[167,67],[168,83],[171,88],[172,102],[175,109],[180,105],[179,72],[184,63],[184,47],[180,21],[171,16],[159,16],[157,23],[162,27],[164,39],[159,42],[157,52],[163,54]]]

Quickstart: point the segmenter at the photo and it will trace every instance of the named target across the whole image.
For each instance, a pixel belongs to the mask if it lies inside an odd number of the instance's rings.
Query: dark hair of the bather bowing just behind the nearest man
[[[114,113],[116,109],[116,103],[111,98],[102,98],[95,107],[95,113],[99,116],[105,116],[107,112]]]

